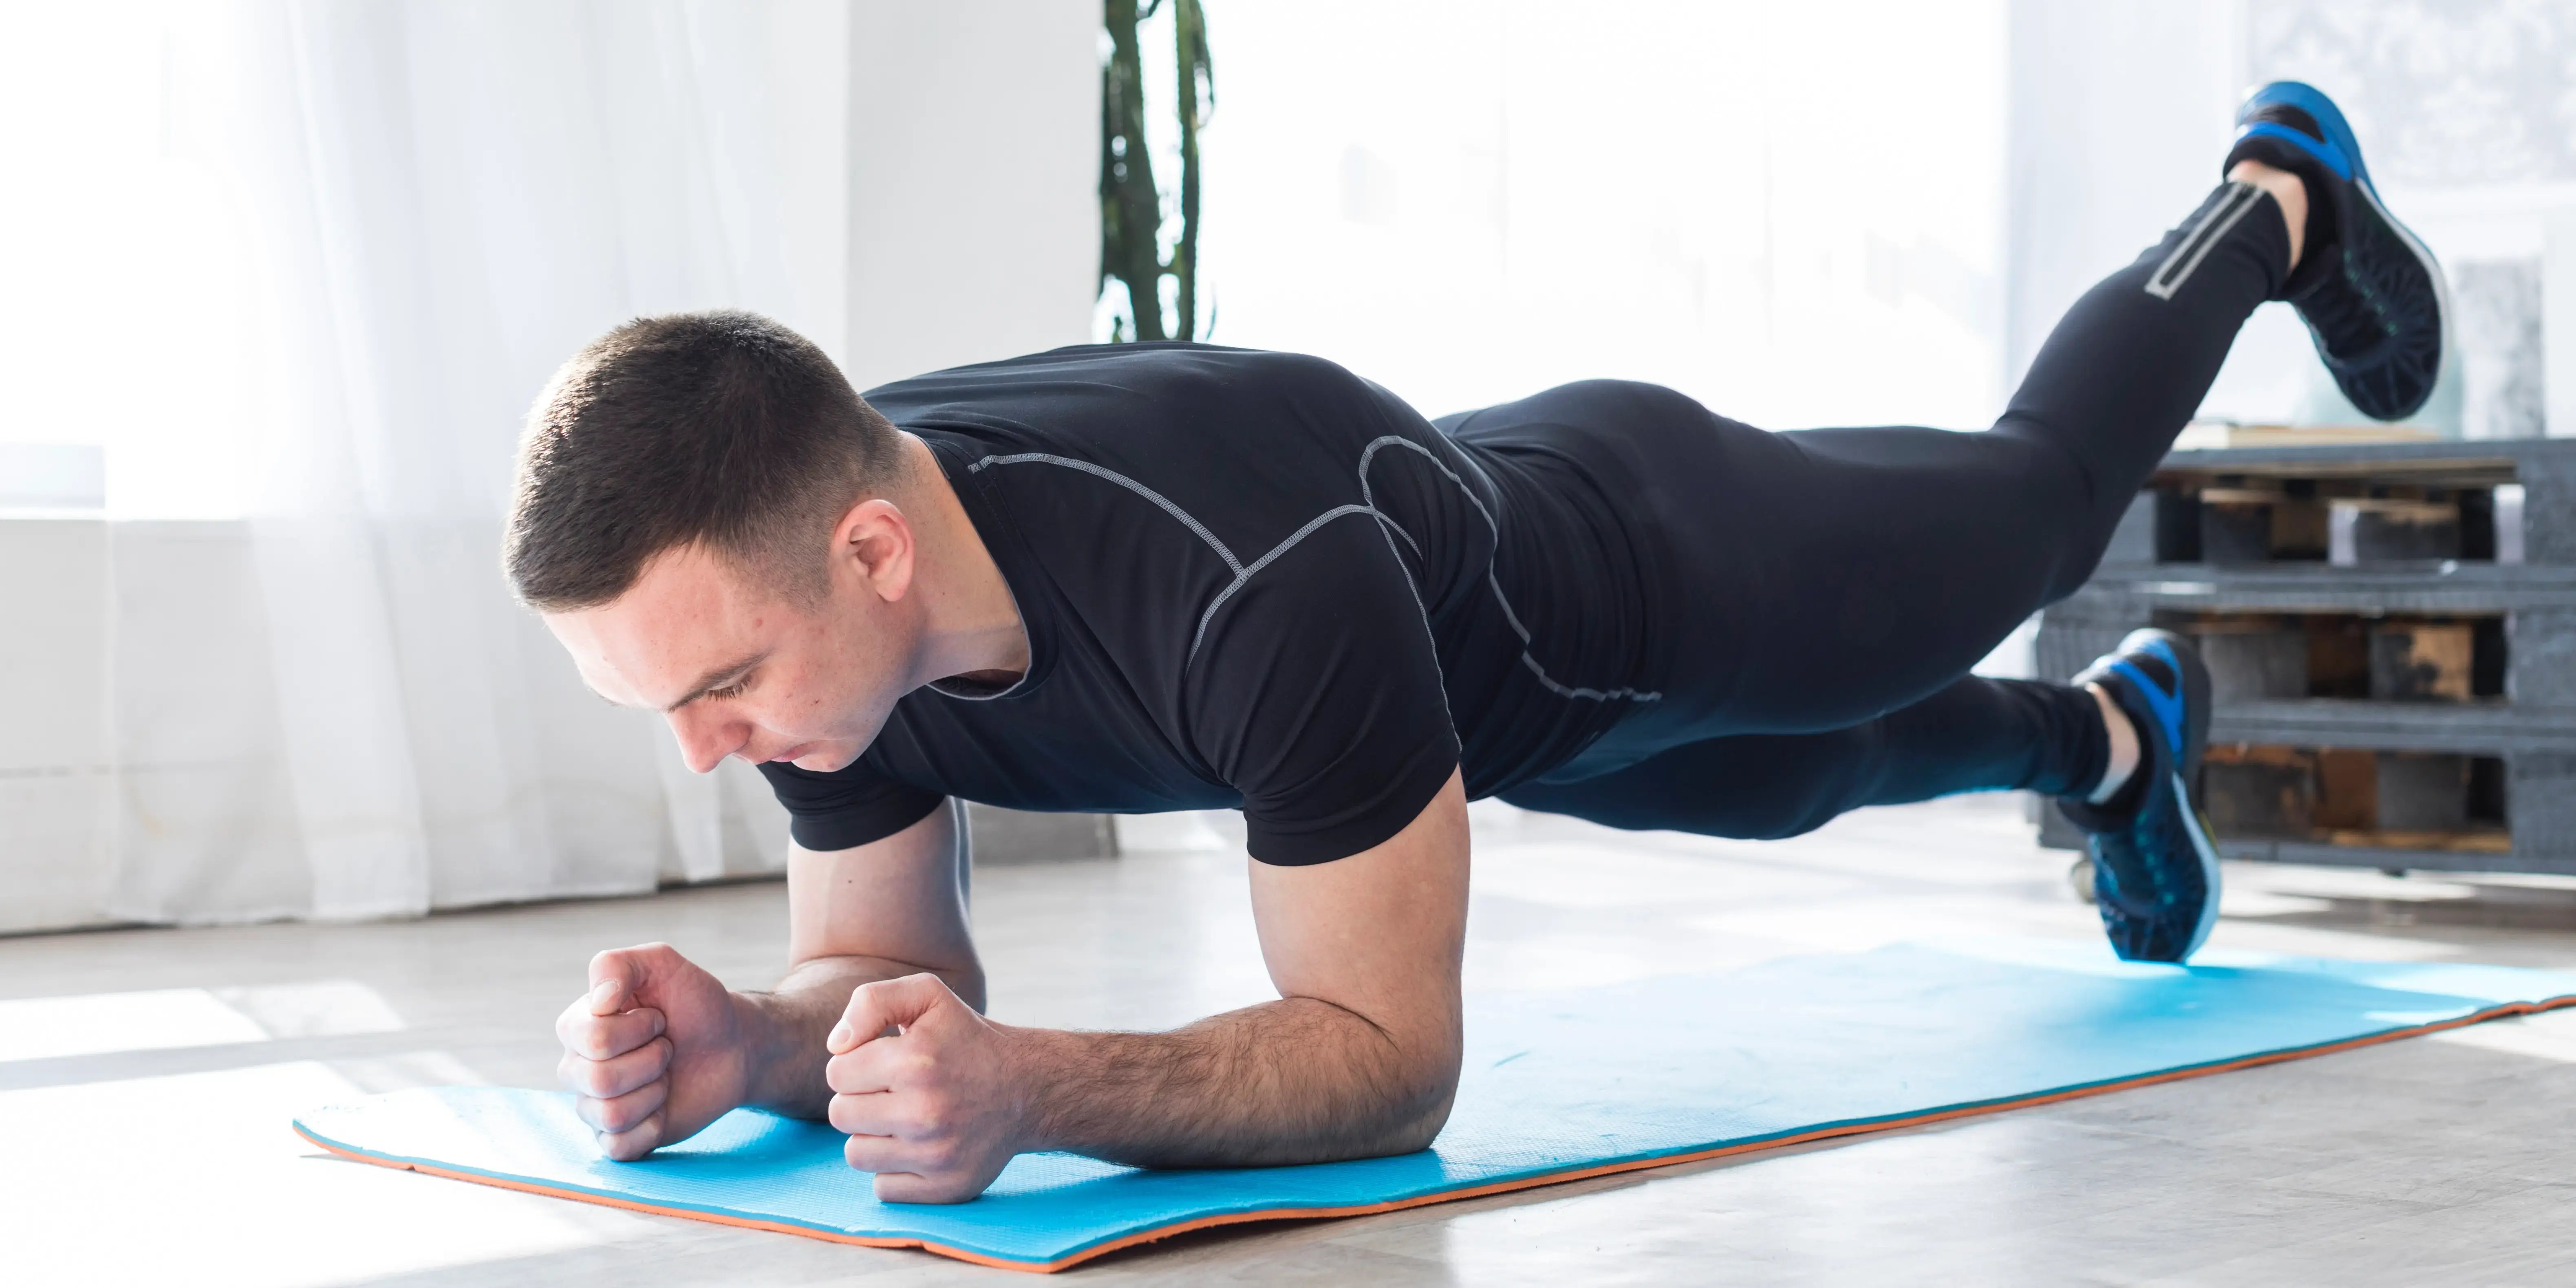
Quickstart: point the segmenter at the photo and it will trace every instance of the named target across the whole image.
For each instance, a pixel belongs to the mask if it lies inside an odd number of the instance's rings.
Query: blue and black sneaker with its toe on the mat
[[[2094,907],[2128,961],[2182,961],[2218,922],[2218,850],[2200,817],[2210,670],[2172,631],[2130,631],[2076,685],[2102,685],[2138,726],[2138,768],[2107,804],[2061,799],[2084,829]]]

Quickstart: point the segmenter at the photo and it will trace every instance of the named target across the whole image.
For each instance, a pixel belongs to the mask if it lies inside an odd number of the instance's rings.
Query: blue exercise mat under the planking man
[[[438,1087],[296,1121],[366,1162],[590,1203],[1061,1270],[1185,1229],[1355,1216],[2241,1069],[2576,1002],[2576,974],[2061,943],[1896,945],[1468,1007],[1440,1141],[1394,1159],[1141,1172],[1023,1154],[958,1206],[878,1203],[822,1123],[734,1110],[608,1162],[559,1092]]]

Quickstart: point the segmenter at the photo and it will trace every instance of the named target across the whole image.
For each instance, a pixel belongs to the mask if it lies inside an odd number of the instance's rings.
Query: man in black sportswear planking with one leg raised
[[[1435,425],[1332,363],[1200,345],[863,402],[757,317],[618,327],[531,417],[510,577],[693,768],[770,778],[796,966],[737,994],[665,945],[600,953],[559,1023],[580,1113],[618,1159],[734,1105],[829,1118],[886,1200],[974,1198],[1030,1149],[1422,1149],[1458,1084],[1476,796],[1783,837],[2045,791],[2092,835],[2112,948],[2184,958],[2218,907],[2190,647],[1965,675],[2084,582],[2264,299],[2362,410],[2429,394],[2442,278],[2334,103],[2269,85],[2241,124],[2226,183],[1986,433],[1762,433],[1615,381]],[[1280,997],[1175,1033],[987,1020],[953,799],[1239,806]]]

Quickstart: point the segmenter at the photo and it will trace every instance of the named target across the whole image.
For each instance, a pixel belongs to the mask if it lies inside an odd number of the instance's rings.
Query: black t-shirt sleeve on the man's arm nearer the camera
[[[1244,796],[1262,863],[1368,850],[1458,768],[1422,600],[1365,510],[1234,585],[1206,618],[1185,698],[1198,752]]]

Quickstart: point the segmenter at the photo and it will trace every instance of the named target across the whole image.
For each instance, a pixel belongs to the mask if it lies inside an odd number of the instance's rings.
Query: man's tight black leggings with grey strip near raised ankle
[[[2089,791],[2107,757],[2092,696],[1968,667],[2084,585],[2287,268],[2280,206],[2221,185],[2066,312],[1984,433],[1765,433],[1625,381],[1443,420],[1461,440],[1561,435],[1636,489],[1667,564],[1664,701],[1502,799],[1788,837],[1868,804]]]

